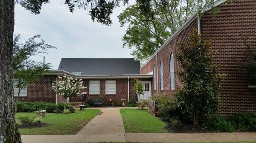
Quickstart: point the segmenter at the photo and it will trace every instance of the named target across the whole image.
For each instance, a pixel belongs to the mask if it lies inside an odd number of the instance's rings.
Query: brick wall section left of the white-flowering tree
[[[35,84],[28,86],[27,97],[21,97],[20,100],[26,102],[55,102],[55,91],[52,89],[52,83],[56,76],[44,76]]]

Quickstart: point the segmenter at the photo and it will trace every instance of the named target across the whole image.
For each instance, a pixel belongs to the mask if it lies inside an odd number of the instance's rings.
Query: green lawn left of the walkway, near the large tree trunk
[[[76,110],[76,113],[55,114],[46,113],[42,118],[44,123],[52,124],[47,127],[19,129],[21,135],[60,135],[76,134],[83,126],[93,119],[100,109],[85,109],[84,111]],[[35,113],[16,113],[15,117],[30,116],[33,118]]]

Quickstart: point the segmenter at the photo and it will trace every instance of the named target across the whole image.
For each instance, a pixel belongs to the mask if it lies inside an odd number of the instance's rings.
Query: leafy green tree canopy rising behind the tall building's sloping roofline
[[[131,55],[141,62],[155,53],[192,14],[214,0],[137,0],[119,16],[121,26],[128,24],[123,47],[135,48]],[[216,8],[212,7],[212,13]]]

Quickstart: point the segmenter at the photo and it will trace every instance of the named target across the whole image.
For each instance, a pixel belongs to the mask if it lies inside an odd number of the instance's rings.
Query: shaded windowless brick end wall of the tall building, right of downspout
[[[243,38],[256,48],[256,0],[231,0],[218,6],[215,19],[210,12],[201,19],[201,34],[212,40],[211,50],[218,50],[215,63],[227,77],[221,85],[222,115],[256,112],[256,92],[248,89],[246,70],[241,68],[248,57]]]

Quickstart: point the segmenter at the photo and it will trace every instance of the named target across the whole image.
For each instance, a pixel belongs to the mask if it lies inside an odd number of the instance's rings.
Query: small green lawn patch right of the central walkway
[[[125,132],[164,133],[166,123],[150,115],[147,110],[120,109]]]

